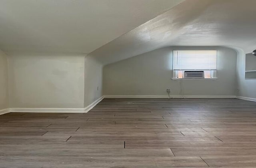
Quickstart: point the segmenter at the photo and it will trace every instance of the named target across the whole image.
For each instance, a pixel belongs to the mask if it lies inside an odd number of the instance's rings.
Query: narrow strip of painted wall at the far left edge
[[[7,55],[0,50],[0,110],[9,107],[8,92],[8,60]]]

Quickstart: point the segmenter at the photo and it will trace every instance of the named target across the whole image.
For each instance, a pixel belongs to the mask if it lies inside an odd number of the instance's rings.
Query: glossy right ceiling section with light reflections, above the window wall
[[[104,64],[165,46],[256,49],[256,0],[186,0],[100,47]]]

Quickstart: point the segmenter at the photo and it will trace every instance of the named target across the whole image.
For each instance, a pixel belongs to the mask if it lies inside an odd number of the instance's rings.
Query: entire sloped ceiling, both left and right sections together
[[[0,0],[0,49],[110,64],[165,46],[256,49],[256,0]]]

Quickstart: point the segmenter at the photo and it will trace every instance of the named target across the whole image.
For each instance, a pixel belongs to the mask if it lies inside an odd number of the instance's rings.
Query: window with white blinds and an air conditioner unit
[[[216,78],[216,50],[174,50],[173,78]]]

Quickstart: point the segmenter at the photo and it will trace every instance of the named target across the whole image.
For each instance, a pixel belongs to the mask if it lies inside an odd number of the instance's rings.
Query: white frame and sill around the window
[[[215,76],[213,78],[176,78],[174,76],[174,51],[177,50],[173,50],[172,51],[172,80],[216,80],[217,78],[217,70],[218,70],[218,50],[216,50],[216,72],[215,72]],[[207,51],[207,50],[181,50],[181,51]],[[198,71],[206,71],[206,70],[200,70],[200,69],[196,69]],[[185,70],[182,70],[185,71]],[[186,71],[195,71],[195,70],[186,70]],[[184,76],[184,72],[183,72],[183,76]]]

